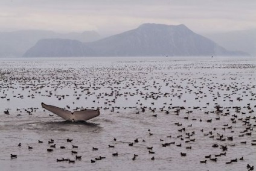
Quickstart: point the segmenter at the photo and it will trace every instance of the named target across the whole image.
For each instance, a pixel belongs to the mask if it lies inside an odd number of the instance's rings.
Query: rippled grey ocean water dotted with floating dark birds
[[[0,170],[256,167],[255,66],[245,57],[0,58]],[[41,102],[101,114],[70,123]]]

